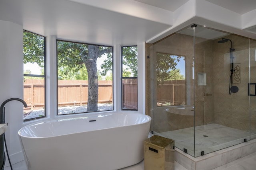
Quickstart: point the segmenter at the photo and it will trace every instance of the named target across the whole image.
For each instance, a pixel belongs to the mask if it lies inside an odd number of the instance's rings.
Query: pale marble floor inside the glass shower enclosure
[[[225,127],[218,124],[202,125],[195,128],[195,141],[194,141],[194,128],[179,129],[175,131],[168,131],[159,133],[166,138],[175,141],[175,147],[183,150],[188,150],[188,154],[200,156],[201,151],[204,154],[214,152],[216,150],[224,149],[238,143],[243,143],[244,139],[250,140],[250,133]],[[196,143],[194,148],[194,143]]]

